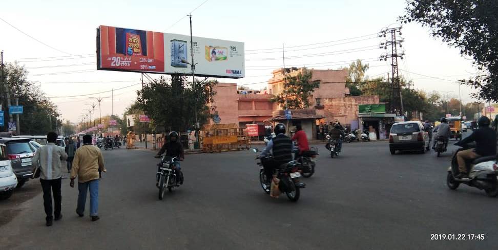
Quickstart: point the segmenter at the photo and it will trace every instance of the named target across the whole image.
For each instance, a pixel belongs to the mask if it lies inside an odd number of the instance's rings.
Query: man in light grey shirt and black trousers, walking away
[[[55,145],[57,141],[57,134],[49,132],[47,134],[48,144],[41,146],[36,150],[33,156],[33,167],[39,166],[40,168],[40,183],[43,190],[43,206],[45,208],[45,217],[47,226],[51,226],[53,220],[60,220],[62,214],[60,213],[60,203],[62,196],[60,195],[60,183],[62,178],[62,164],[68,155],[63,147]],[[52,216],[52,193],[54,195],[54,216]],[[55,217],[55,218],[54,218]]]

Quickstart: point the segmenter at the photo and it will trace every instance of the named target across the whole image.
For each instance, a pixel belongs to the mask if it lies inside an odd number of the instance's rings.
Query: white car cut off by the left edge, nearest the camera
[[[5,144],[0,144],[0,200],[8,199],[17,186]]]

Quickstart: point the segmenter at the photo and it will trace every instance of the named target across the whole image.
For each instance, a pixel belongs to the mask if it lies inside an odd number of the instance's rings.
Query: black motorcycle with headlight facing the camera
[[[168,191],[173,192],[174,188],[180,187],[179,181],[181,176],[177,176],[176,171],[173,169],[175,161],[179,161],[179,159],[171,156],[162,156],[161,162],[158,164],[159,172],[156,174],[156,180],[158,182],[157,188],[159,189],[160,200],[164,197],[164,190],[166,188],[168,188]],[[179,174],[181,175],[181,172]]]

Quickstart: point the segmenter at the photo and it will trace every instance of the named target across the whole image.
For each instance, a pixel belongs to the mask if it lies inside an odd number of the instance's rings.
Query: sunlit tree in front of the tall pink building
[[[285,76],[285,87],[282,93],[271,99],[287,109],[308,108],[309,97],[318,87],[320,80],[312,81],[313,73],[304,70],[297,76]]]

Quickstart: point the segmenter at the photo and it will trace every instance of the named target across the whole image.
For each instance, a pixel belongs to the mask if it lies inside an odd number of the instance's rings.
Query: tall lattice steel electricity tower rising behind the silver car
[[[404,115],[403,109],[403,97],[401,95],[401,83],[400,76],[398,71],[398,57],[403,60],[404,52],[398,54],[398,46],[402,47],[402,42],[404,39],[397,40],[396,33],[401,35],[401,27],[396,28],[386,28],[381,31],[379,37],[386,37],[386,35],[390,34],[391,40],[381,42],[380,48],[387,50],[387,47],[391,47],[391,53],[386,53],[386,55],[382,55],[379,59],[382,61],[387,61],[387,58],[391,58],[391,70],[392,70],[392,81],[391,81],[391,93],[389,95],[389,106],[391,112],[399,112],[401,111],[401,115]]]

